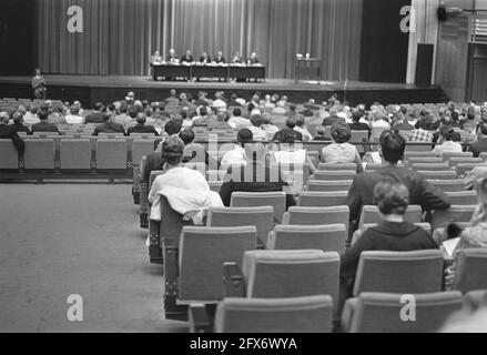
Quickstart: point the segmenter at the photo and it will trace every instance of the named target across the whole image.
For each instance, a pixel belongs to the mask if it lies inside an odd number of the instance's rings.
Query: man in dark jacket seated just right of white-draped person
[[[286,192],[286,209],[295,204],[294,196],[288,190],[282,172],[271,168],[265,158],[266,149],[263,143],[243,144],[245,164],[229,166],[220,189],[223,204],[230,206],[232,193],[244,192]]]

